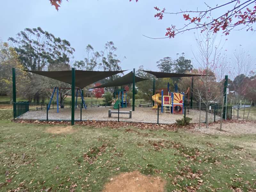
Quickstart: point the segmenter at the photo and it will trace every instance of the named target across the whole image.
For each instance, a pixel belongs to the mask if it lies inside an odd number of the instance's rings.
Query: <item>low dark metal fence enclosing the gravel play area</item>
[[[47,109],[47,104],[32,104],[28,102],[15,103],[16,119],[22,120],[39,120],[39,121],[71,121],[71,106],[64,105],[62,108],[52,104]],[[191,118],[190,123],[205,123],[206,110],[208,110],[208,122],[220,120],[221,107],[207,109],[202,107],[184,107],[183,114],[173,114],[170,108],[164,108],[161,112],[161,106],[153,109],[149,104],[139,104],[132,111],[132,107],[113,109],[112,105],[89,104],[83,108],[79,104],[75,108],[75,121],[123,121],[138,123],[157,123],[157,124],[174,124],[176,120],[184,117]],[[232,108],[228,108],[228,118],[231,118]]]

